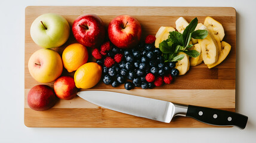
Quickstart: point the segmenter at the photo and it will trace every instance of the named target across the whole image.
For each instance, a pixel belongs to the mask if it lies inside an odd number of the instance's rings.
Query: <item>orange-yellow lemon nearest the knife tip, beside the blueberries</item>
[[[101,78],[101,66],[95,62],[82,65],[76,70],[74,80],[77,88],[88,89],[97,85]]]

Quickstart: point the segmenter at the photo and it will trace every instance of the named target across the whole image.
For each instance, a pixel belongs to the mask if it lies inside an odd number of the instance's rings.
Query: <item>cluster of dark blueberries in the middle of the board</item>
[[[152,89],[155,85],[146,81],[147,73],[152,73],[155,77],[165,74],[171,74],[172,77],[178,76],[179,71],[174,69],[175,62],[164,63],[162,52],[153,44],[140,43],[138,48],[125,50],[113,47],[107,55],[112,57],[117,53],[124,54],[124,57],[120,63],[116,63],[112,67],[104,66],[102,60],[96,61],[103,66],[103,82],[106,85],[111,84],[116,87],[125,83],[124,86],[127,90],[134,88],[134,86]],[[127,82],[127,79],[132,82]]]

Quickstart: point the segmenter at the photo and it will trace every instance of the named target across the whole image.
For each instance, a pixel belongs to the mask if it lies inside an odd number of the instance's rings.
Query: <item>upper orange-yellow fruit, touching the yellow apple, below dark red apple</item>
[[[67,71],[72,72],[77,70],[88,61],[87,48],[80,43],[72,43],[64,49],[62,61]]]

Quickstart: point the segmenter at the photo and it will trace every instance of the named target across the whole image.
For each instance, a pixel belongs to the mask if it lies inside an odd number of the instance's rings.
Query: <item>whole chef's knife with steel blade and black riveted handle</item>
[[[230,111],[195,105],[174,104],[168,101],[109,91],[81,91],[78,96],[110,110],[169,123],[174,116],[193,117],[217,126],[238,126],[244,129],[247,116]]]

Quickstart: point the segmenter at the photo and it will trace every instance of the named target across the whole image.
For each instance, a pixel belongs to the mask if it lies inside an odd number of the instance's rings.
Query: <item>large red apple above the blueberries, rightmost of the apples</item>
[[[138,20],[130,15],[119,15],[108,27],[109,39],[118,48],[132,48],[141,38],[141,26]]]

